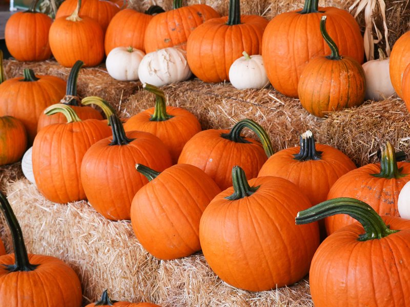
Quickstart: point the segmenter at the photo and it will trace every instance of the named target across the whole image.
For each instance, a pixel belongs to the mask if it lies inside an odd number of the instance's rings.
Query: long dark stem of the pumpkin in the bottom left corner
[[[14,249],[14,265],[5,266],[9,272],[34,271],[38,265],[32,265],[29,261],[26,245],[24,244],[23,232],[18,224],[17,218],[11,209],[6,196],[0,192],[0,209],[9,225]]]

